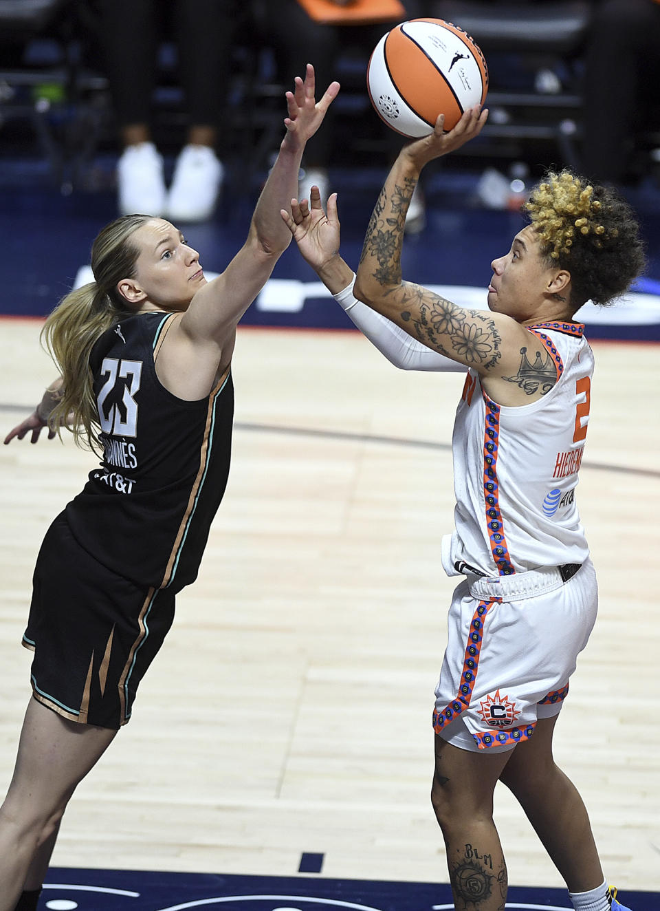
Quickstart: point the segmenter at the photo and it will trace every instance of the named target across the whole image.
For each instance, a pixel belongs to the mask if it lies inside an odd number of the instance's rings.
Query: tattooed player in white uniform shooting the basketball
[[[621,295],[644,265],[623,200],[569,171],[526,205],[530,224],[492,261],[488,310],[401,280],[403,224],[421,169],[477,136],[450,132],[401,149],[367,229],[357,279],[339,255],[337,198],[282,212],[300,251],[360,330],[404,369],[465,370],[453,434],[455,530],[442,566],[462,578],[436,689],[432,803],[454,906],[502,911],[495,784],[523,806],[576,911],[628,911],[608,888],[582,799],[553,763],[553,728],[594,625],[594,567],[575,487],[594,358],[574,322],[587,300]]]

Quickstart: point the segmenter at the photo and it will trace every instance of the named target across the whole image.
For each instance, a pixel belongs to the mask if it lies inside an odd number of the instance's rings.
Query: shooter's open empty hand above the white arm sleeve
[[[337,214],[337,193],[328,199],[328,214],[323,211],[319,188],[311,188],[310,201],[291,200],[291,210],[280,210],[302,258],[315,271],[323,267],[340,251],[340,220]]]

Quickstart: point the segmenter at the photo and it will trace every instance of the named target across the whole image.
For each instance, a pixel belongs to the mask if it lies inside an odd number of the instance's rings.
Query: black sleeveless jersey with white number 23
[[[66,506],[78,543],[120,576],[178,591],[196,578],[227,486],[231,375],[186,402],[160,384],[155,359],[172,314],[108,329],[89,358],[104,458]]]

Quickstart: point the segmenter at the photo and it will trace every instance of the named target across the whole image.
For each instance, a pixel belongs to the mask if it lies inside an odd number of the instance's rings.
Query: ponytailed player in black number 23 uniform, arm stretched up
[[[23,640],[33,693],[0,806],[0,911],[36,911],[66,805],[130,719],[176,595],[197,577],[228,477],[236,326],[289,246],[279,207],[339,91],[333,82],[317,102],[315,85],[308,64],[287,92],[278,158],[225,271],[207,281],[174,225],[123,216],[96,238],[95,280],[46,321],[62,376],[5,444],[64,425],[103,461],[36,561]]]

